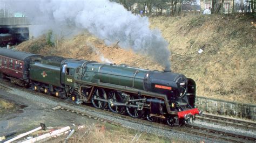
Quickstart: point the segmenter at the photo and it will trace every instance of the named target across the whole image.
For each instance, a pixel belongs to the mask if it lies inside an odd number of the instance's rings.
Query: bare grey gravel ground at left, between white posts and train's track
[[[21,92],[21,94],[24,93]],[[15,105],[14,109],[0,112],[0,137],[9,133],[23,133],[24,131],[32,130],[38,127],[40,123],[45,123],[47,127],[61,127],[70,126],[74,123],[77,125],[89,125],[98,122],[94,119],[88,119],[87,117],[82,117],[63,110],[53,111],[51,105],[33,102],[2,89],[0,89],[0,98],[14,103]],[[63,119],[64,117],[65,119]]]

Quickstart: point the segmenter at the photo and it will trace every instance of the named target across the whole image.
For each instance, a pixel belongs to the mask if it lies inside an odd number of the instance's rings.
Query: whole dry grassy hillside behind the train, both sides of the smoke
[[[152,17],[150,22],[151,28],[159,28],[169,42],[172,71],[193,78],[198,95],[255,103],[256,21],[253,17],[163,16]],[[71,39],[53,41],[55,46],[51,46],[48,36],[23,42],[17,49],[163,70],[150,58],[115,44],[106,46],[86,32]],[[201,54],[198,53],[200,48],[203,49]]]

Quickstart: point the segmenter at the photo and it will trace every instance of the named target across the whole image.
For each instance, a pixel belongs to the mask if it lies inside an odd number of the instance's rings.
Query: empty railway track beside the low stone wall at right
[[[196,118],[199,120],[205,120],[210,123],[218,123],[225,126],[245,128],[247,130],[256,130],[256,123],[253,121],[211,115],[208,113],[204,113],[203,116],[197,116]]]

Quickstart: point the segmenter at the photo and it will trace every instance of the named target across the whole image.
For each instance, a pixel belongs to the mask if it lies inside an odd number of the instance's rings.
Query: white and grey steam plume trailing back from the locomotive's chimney
[[[51,29],[75,35],[84,29],[111,45],[150,56],[170,69],[170,51],[159,30],[150,30],[149,19],[133,15],[123,5],[106,0],[2,0],[11,9],[24,12],[34,25],[34,36]]]

